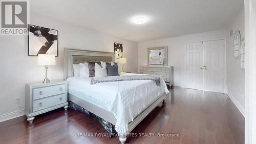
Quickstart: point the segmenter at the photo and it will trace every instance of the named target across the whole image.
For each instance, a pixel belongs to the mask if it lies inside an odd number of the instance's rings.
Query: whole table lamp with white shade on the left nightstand
[[[50,80],[47,78],[48,66],[56,65],[55,55],[53,54],[38,54],[37,65],[46,67],[46,78],[42,83],[50,83]]]

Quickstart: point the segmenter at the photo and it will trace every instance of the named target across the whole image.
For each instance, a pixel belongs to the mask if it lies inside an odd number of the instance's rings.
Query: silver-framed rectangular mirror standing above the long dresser
[[[168,66],[168,47],[147,48],[147,65]]]

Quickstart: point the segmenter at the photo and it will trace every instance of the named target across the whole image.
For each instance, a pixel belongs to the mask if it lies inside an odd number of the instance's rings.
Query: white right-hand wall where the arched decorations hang
[[[240,68],[240,59],[233,57],[233,36],[237,30],[240,30],[241,39],[244,38],[244,10],[233,20],[229,30],[233,29],[233,35],[228,38],[227,49],[227,87],[228,95],[235,101],[238,107],[244,111],[245,108],[245,73]]]

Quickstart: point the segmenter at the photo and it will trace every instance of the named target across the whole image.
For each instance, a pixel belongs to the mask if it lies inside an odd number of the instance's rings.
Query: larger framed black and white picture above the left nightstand
[[[28,25],[28,55],[54,54],[58,56],[58,31]]]

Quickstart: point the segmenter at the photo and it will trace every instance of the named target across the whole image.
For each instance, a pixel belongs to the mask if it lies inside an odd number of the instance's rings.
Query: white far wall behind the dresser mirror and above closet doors
[[[227,30],[210,31],[197,34],[183,35],[165,39],[139,42],[139,66],[147,65],[146,51],[150,47],[168,46],[168,65],[174,66],[174,85],[186,87],[185,84],[185,44],[188,42],[202,42],[205,40],[226,39]]]

